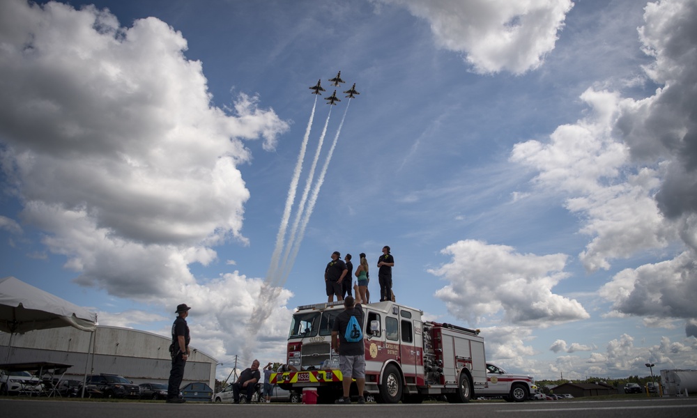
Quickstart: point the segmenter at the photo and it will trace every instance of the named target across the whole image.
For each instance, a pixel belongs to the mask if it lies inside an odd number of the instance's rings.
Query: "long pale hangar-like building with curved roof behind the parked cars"
[[[82,380],[86,371],[118,374],[134,383],[167,383],[171,369],[169,337],[102,325],[97,327],[93,341],[91,337],[91,332],[73,327],[36,330],[13,335],[8,348],[10,334],[0,332],[0,363],[72,364],[65,377],[75,380]],[[191,349],[182,386],[204,382],[214,387],[217,360],[193,346]]]

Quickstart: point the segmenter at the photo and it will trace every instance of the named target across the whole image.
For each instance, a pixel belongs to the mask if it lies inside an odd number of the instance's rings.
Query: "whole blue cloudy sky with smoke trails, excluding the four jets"
[[[224,378],[389,245],[509,371],[697,369],[696,61],[696,0],[1,1],[0,277]]]

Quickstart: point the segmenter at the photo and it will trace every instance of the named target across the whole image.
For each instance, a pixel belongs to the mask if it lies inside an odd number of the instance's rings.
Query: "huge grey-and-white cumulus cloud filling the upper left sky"
[[[273,110],[244,94],[213,107],[202,63],[156,18],[21,0],[0,16],[2,168],[80,284],[152,302],[197,286],[188,265],[213,245],[247,242],[238,165],[245,141],[270,150],[288,129]]]

